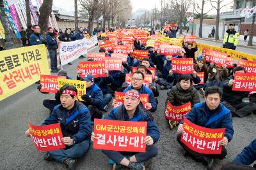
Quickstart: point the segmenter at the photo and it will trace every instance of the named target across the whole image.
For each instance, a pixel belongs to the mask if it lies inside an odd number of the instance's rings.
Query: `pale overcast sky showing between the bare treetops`
[[[11,4],[15,1],[16,0],[8,0],[8,2],[10,2]],[[31,1],[34,5],[36,5],[36,0],[31,0]],[[171,4],[170,0],[165,0],[165,1],[166,1],[166,3]],[[225,0],[224,4],[229,3],[230,1],[232,1],[232,0]],[[164,0],[163,0],[163,2],[164,2]],[[195,2],[202,2],[202,1],[197,0]],[[154,8],[154,6],[156,6],[158,8],[158,10],[161,10],[161,0],[131,0],[131,3],[132,3],[132,11],[133,12],[140,8],[146,9],[146,10],[151,10],[152,8]],[[74,1],[73,0],[53,0],[53,5],[57,8],[62,8],[63,11],[61,11],[61,13],[63,13],[64,10],[67,11],[68,14],[74,13]],[[224,7],[221,11],[230,11],[231,10],[230,6],[232,6],[232,5],[233,4],[230,4],[229,6]],[[199,3],[199,6],[200,6],[200,3]],[[207,1],[204,8],[205,8],[204,12],[211,10],[212,7],[211,7],[211,4],[209,3],[209,1]],[[193,8],[191,8],[191,12],[192,11],[193,11]],[[209,14],[216,14],[216,10],[212,9],[209,12]]]

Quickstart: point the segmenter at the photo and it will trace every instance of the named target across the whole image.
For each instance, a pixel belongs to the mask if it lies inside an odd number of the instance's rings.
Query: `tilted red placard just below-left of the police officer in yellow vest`
[[[221,53],[214,50],[209,50],[204,48],[202,50],[202,54],[204,56],[205,61],[207,62],[214,62],[217,66],[222,66],[227,61],[227,53]]]

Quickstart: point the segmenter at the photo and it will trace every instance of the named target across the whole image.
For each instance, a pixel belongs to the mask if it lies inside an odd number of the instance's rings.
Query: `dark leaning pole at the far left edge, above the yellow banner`
[[[6,23],[6,15],[4,12],[4,0],[0,0],[0,19],[4,27],[4,34],[5,34],[5,43],[4,48],[6,50],[13,48],[12,38],[10,35],[10,30],[8,28],[8,24]]]

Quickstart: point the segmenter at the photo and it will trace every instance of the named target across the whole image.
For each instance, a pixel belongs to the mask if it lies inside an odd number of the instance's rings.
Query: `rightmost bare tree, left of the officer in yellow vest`
[[[223,2],[224,2],[224,0],[216,0],[216,1],[210,0],[211,6],[213,8],[215,8],[215,10],[217,11],[217,15],[216,15],[216,29],[215,29],[215,40],[219,40],[220,39],[219,38],[220,10],[224,6],[227,6],[227,5],[231,4],[231,3],[233,3],[234,1],[231,1],[230,3],[226,3],[226,4],[223,4]]]

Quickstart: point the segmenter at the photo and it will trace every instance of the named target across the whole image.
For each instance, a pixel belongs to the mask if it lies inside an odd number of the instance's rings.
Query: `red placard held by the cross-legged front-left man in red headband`
[[[36,150],[51,151],[60,150],[66,147],[61,142],[63,136],[60,124],[37,126],[29,122],[28,126]]]

